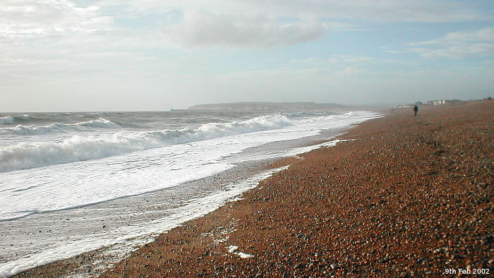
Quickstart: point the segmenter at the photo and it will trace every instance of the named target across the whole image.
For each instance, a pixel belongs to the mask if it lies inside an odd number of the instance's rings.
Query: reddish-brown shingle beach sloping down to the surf
[[[415,118],[406,110],[361,123],[337,138],[351,141],[275,162],[291,167],[242,200],[162,234],[103,276],[492,269],[493,108],[431,107]],[[18,277],[64,275],[70,263]]]

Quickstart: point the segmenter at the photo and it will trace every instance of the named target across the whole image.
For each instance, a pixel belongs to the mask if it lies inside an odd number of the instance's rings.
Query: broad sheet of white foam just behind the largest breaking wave
[[[345,119],[344,121],[333,118],[326,121],[319,119],[311,123],[169,145],[116,157],[55,164],[23,171],[6,171],[0,173],[0,186],[2,183],[8,185],[8,188],[2,188],[0,203],[8,205],[0,207],[0,220],[15,219],[37,212],[81,207],[176,186],[229,169],[236,163],[247,160],[296,155],[313,150],[315,146],[280,150],[274,153],[254,153],[252,158],[248,155],[242,155],[240,158],[234,156],[250,147],[317,135],[320,132],[318,126],[339,128],[359,121],[363,119]],[[88,155],[104,155],[99,152],[114,151],[114,149],[104,149],[104,147],[97,149],[91,140],[87,144],[88,147],[85,147],[84,143],[88,138],[81,137],[78,140],[81,147],[78,150],[80,153],[76,155],[85,155],[85,158]],[[118,140],[116,142],[118,143]],[[116,145],[125,147],[122,144]],[[36,149],[26,147],[23,150],[26,150],[25,157],[35,157],[30,155],[29,151]],[[52,154],[56,153],[56,150],[47,150]],[[64,148],[60,147],[59,152],[64,154]],[[58,157],[55,158],[58,159]],[[38,163],[47,162],[45,160]]]

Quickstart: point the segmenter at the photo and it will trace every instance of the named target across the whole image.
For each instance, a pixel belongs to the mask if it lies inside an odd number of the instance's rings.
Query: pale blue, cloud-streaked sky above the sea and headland
[[[0,0],[0,111],[488,96],[493,0]]]

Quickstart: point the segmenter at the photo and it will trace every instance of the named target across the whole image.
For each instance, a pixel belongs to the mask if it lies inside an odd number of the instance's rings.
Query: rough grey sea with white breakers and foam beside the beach
[[[275,159],[335,145],[332,138],[378,116],[0,114],[0,277],[87,252],[95,259],[73,275],[97,275],[157,235],[237,200],[284,169],[267,169]]]

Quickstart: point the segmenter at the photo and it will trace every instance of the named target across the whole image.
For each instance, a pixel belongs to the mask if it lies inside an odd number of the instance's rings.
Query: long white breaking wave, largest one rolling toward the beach
[[[206,123],[197,129],[74,135],[61,142],[23,142],[0,147],[0,172],[122,155],[167,145],[265,131],[290,125],[292,123],[287,116],[272,114],[247,121]]]

